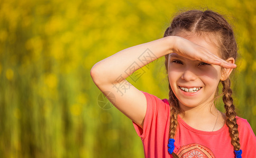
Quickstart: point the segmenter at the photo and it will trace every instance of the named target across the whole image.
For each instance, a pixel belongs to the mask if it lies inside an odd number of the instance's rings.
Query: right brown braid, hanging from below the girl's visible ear
[[[228,132],[230,133],[231,137],[231,144],[234,146],[234,150],[240,150],[240,143],[239,143],[239,133],[237,130],[237,123],[236,123],[236,113],[235,113],[235,106],[233,105],[233,98],[231,97],[232,90],[230,88],[230,78],[227,80],[222,81],[223,85],[223,102],[226,110],[226,117],[227,121],[226,124],[228,126]]]

